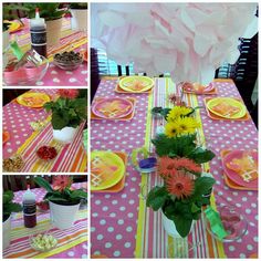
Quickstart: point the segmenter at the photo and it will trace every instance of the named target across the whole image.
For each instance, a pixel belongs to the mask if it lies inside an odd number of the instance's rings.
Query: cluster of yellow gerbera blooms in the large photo
[[[195,133],[200,124],[194,117],[177,117],[165,126],[165,134],[175,137],[182,134]]]

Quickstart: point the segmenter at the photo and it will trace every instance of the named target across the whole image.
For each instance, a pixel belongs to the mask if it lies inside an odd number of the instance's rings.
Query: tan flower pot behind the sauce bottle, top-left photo
[[[62,18],[52,21],[46,21],[48,46],[53,46],[60,43],[62,21]]]

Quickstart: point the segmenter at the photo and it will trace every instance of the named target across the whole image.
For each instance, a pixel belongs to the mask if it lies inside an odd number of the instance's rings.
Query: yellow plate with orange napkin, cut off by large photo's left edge
[[[125,174],[123,159],[114,153],[91,153],[91,190],[103,190],[116,185]],[[97,182],[97,186],[94,186]]]

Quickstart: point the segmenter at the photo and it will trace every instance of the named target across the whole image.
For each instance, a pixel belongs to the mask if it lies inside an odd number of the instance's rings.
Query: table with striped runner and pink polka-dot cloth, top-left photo
[[[17,41],[22,52],[31,49],[30,21],[22,19],[23,27],[19,31],[10,33],[9,41]],[[35,86],[87,86],[87,62],[84,61],[76,70],[62,70],[54,65],[53,56],[62,52],[87,52],[87,32],[71,29],[71,18],[62,18],[61,39],[59,44],[48,46],[49,69],[45,75],[35,83]],[[12,60],[12,52],[9,51]]]

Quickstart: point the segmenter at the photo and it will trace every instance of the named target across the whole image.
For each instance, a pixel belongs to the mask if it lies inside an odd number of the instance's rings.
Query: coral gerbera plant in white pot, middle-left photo
[[[52,111],[53,137],[61,143],[71,143],[79,125],[87,117],[87,100],[76,88],[60,88],[60,97],[44,104],[44,108]]]

